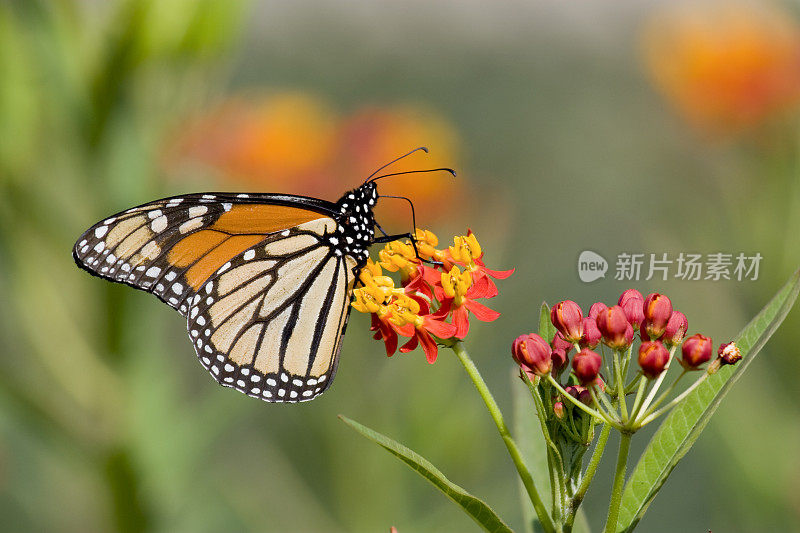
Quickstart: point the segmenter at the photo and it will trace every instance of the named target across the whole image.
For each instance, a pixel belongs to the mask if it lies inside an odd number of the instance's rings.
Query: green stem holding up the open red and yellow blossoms
[[[478,389],[478,393],[481,395],[481,398],[483,398],[483,403],[486,404],[486,408],[489,410],[489,414],[492,416],[492,419],[497,426],[497,431],[503,438],[506,449],[508,449],[508,454],[511,456],[514,466],[517,467],[519,477],[522,480],[522,484],[525,486],[525,490],[528,492],[528,496],[531,499],[531,503],[533,504],[533,508],[536,511],[536,516],[539,518],[539,522],[542,525],[542,529],[545,531],[545,533],[555,533],[556,529],[553,525],[553,520],[550,518],[550,515],[547,514],[547,509],[545,509],[542,498],[539,497],[539,492],[536,490],[536,486],[533,483],[533,477],[531,476],[528,467],[525,466],[525,462],[522,460],[522,455],[519,452],[519,448],[517,448],[517,444],[514,442],[514,439],[511,438],[511,434],[508,431],[505,420],[503,420],[503,414],[500,412],[497,402],[494,401],[494,397],[492,397],[489,387],[487,387],[486,382],[483,381],[480,372],[478,372],[478,368],[475,366],[475,363],[472,362],[472,359],[470,359],[467,350],[464,349],[464,345],[460,341],[457,341],[451,346],[451,348],[458,357],[458,360],[461,361],[461,364],[464,366],[467,374],[469,374],[469,377],[472,379],[472,383],[475,385],[475,388]]]

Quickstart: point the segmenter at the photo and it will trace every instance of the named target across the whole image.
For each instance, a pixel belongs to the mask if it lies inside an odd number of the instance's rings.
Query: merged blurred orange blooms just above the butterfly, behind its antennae
[[[223,102],[183,127],[170,160],[179,166],[199,163],[242,189],[335,200],[420,145],[429,146],[430,155],[414,154],[385,172],[457,166],[458,135],[433,110],[365,107],[341,116],[311,94],[283,92]],[[382,194],[411,198],[426,222],[457,205],[464,190],[462,178],[455,182],[446,174],[397,176],[380,185]],[[405,224],[392,229],[411,229],[404,203],[391,202],[384,210],[382,220]]]

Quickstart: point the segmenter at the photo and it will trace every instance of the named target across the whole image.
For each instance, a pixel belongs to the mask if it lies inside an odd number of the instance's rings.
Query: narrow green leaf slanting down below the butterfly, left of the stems
[[[442,491],[445,496],[457,503],[459,507],[472,517],[484,530],[490,533],[513,533],[511,528],[497,516],[491,507],[447,479],[430,461],[414,452],[414,450],[406,448],[399,442],[363,426],[344,415],[339,415],[339,418],[342,422],[355,429],[369,440],[379,444],[389,453],[410,466],[412,470],[430,481],[433,486]]]

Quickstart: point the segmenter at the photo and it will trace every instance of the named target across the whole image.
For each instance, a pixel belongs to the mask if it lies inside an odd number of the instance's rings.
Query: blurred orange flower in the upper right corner
[[[800,27],[765,4],[684,4],[646,26],[655,84],[701,131],[735,133],[800,101]]]

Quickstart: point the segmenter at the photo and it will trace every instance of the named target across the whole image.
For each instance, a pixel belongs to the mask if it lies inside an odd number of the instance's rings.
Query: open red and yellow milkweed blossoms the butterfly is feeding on
[[[497,296],[492,278],[505,279],[513,269],[491,270],[475,234],[453,238],[453,245],[438,249],[431,231],[417,229],[414,242],[392,241],[368,259],[353,291],[352,306],[370,313],[374,338],[386,345],[386,355],[397,351],[399,337],[408,337],[400,352],[422,346],[429,363],[436,361],[438,340],[463,339],[469,333],[470,315],[491,322],[500,313],[478,300]],[[387,275],[395,273],[400,285]]]

